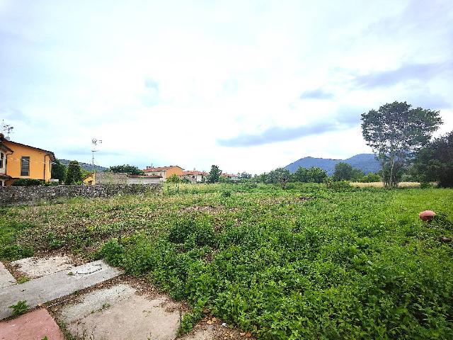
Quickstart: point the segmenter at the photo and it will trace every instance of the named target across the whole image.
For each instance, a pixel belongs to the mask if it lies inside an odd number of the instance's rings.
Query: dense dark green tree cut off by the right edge
[[[453,187],[453,131],[420,149],[413,164],[420,181],[436,181],[440,187]]]

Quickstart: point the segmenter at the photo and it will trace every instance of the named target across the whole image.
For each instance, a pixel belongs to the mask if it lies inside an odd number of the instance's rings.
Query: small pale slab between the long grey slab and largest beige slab
[[[108,308],[115,303],[135,295],[135,289],[130,285],[114,285],[110,288],[93,290],[83,295],[80,302],[65,305],[61,311],[61,317],[67,324],[75,322],[83,317]]]

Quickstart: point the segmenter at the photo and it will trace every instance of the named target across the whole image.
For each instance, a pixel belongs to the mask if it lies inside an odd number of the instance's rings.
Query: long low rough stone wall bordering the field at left
[[[102,186],[5,186],[0,188],[0,205],[29,203],[71,197],[110,197],[137,193],[161,193],[161,184],[114,184]]]

